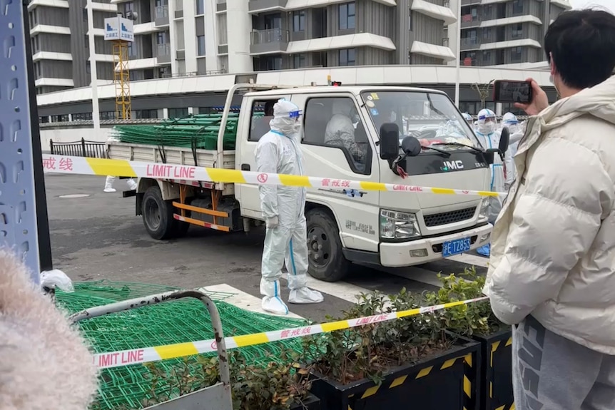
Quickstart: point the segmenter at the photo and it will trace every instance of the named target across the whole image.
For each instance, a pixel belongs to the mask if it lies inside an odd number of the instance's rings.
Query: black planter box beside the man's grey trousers
[[[481,344],[483,358],[478,382],[480,409],[510,410],[514,404],[511,330],[502,330],[487,337],[474,336],[474,339]]]

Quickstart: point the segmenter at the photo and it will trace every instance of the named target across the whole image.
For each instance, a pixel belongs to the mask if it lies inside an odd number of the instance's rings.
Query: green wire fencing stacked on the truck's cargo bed
[[[263,116],[263,113],[254,113]],[[223,149],[234,150],[238,113],[229,113],[223,136]],[[167,147],[218,148],[218,131],[222,114],[198,114],[163,120],[156,125],[116,125],[113,136],[123,143],[162,145]]]

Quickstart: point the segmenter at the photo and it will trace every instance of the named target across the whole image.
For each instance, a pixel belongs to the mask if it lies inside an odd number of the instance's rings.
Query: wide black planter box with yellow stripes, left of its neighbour
[[[313,373],[310,391],[322,410],[396,410],[411,404],[425,410],[478,410],[479,348],[459,339],[444,354],[391,369],[380,386],[369,379],[344,385]]]

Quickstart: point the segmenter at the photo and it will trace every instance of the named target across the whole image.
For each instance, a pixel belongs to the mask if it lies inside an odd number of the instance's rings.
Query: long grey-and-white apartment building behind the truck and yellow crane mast
[[[103,21],[129,13],[131,81],[307,67],[454,61],[449,0],[31,0],[38,93],[113,81]]]

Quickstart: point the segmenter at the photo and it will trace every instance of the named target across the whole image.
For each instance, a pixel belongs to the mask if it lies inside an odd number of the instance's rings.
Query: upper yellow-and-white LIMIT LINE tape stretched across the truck
[[[339,188],[348,190],[431,193],[439,195],[477,195],[480,197],[507,195],[507,193],[490,191],[420,187],[417,185],[374,183],[370,181],[308,177],[305,175],[257,173],[254,171],[228,170],[223,168],[203,168],[190,165],[142,163],[138,161],[68,157],[65,155],[49,154],[43,154],[43,169],[46,173],[113,175],[118,177],[155,178],[184,182],[213,181],[215,183],[285,185],[321,189]]]

